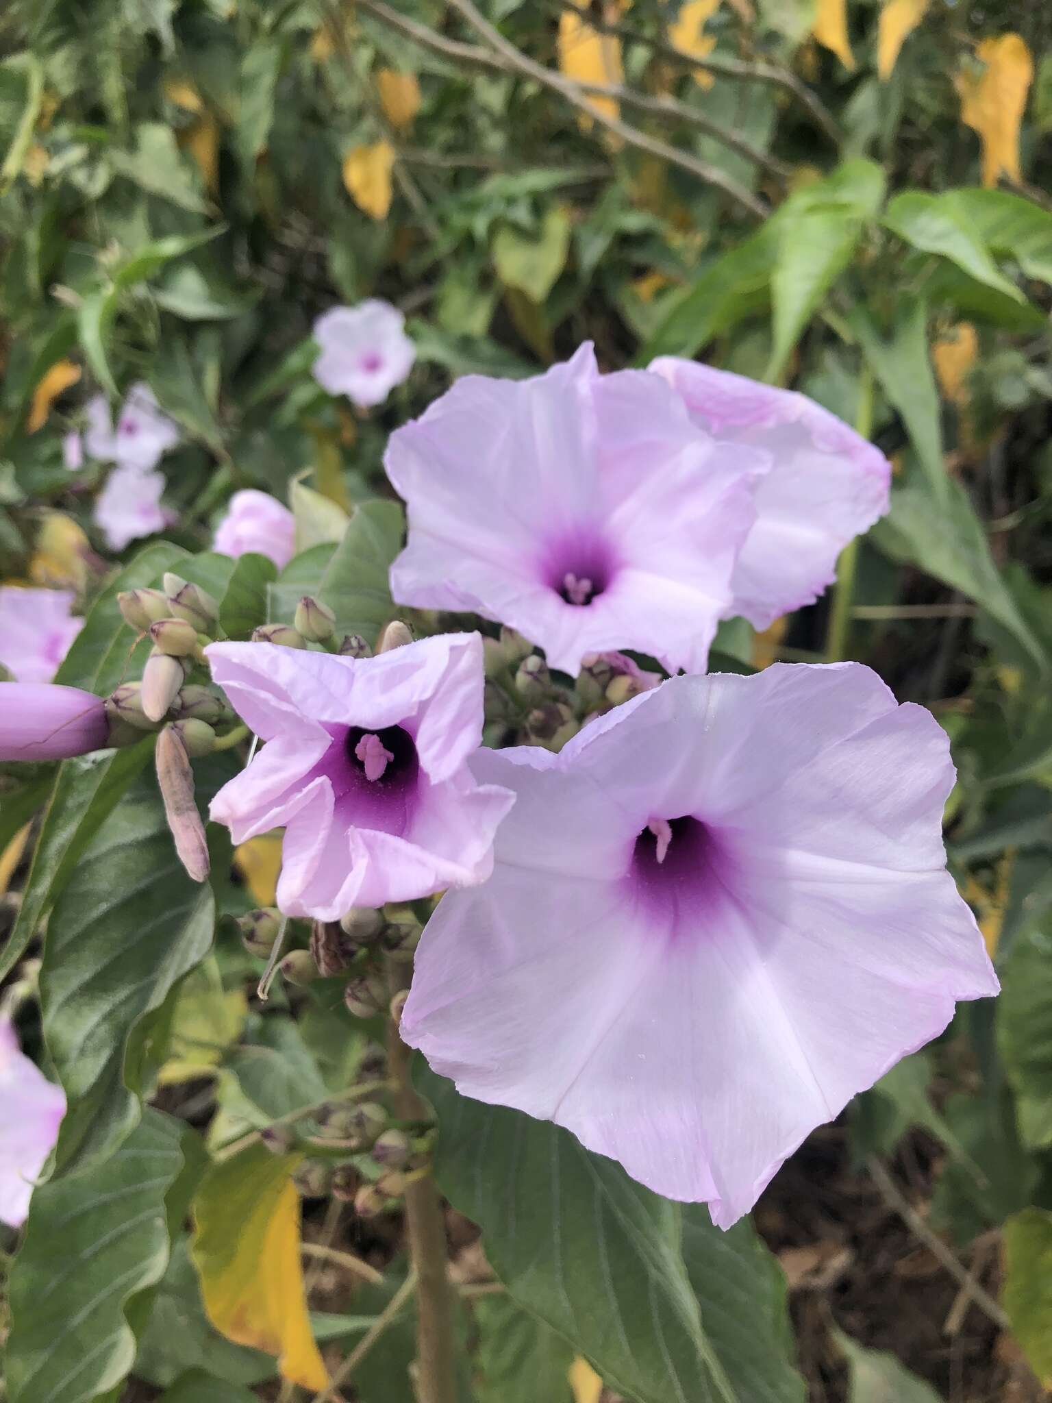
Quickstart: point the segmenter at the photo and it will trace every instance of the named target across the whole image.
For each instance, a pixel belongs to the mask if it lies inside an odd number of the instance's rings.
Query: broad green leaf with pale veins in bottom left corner
[[[90,1403],[128,1375],[129,1309],[168,1260],[164,1198],[182,1132],[147,1110],[105,1163],[34,1191],[10,1278],[10,1403]]]

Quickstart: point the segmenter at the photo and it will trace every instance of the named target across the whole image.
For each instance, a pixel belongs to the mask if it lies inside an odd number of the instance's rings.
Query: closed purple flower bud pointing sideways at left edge
[[[48,682],[0,682],[0,760],[65,760],[109,744],[102,697]]]

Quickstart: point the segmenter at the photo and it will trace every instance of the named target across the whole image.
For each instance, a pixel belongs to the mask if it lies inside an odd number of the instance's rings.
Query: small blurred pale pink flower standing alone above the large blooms
[[[365,407],[383,404],[417,359],[405,317],[380,297],[325,311],[314,323],[314,340],[321,347],[314,379],[330,394]]]

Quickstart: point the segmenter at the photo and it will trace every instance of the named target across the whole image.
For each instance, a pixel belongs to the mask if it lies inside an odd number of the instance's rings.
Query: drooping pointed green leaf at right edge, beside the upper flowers
[[[1018,640],[1042,671],[1048,666],[1041,643],[997,572],[982,522],[954,478],[944,478],[938,495],[923,481],[893,488],[891,511],[877,522],[872,539],[892,560],[920,565],[929,575],[975,599]]]

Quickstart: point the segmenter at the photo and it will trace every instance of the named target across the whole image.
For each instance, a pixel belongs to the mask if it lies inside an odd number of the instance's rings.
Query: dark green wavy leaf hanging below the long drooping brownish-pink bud
[[[144,1016],[208,953],[212,891],[182,870],[153,776],[98,829],[48,922],[43,1034],[69,1097],[62,1173],[111,1153],[136,1125]]]

